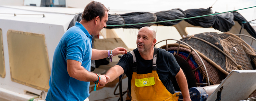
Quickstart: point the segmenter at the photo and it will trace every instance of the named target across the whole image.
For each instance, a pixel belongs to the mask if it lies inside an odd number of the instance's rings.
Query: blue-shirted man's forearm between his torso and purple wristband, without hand
[[[93,49],[91,53],[91,60],[98,60],[108,57],[108,50]]]

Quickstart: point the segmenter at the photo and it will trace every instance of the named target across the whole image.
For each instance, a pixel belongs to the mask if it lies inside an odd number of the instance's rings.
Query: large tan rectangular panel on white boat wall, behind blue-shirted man
[[[11,80],[48,91],[50,64],[45,35],[8,30],[7,42]]]

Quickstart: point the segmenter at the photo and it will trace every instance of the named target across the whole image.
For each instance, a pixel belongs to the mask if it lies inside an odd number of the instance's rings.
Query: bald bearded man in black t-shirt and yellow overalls
[[[191,101],[183,71],[173,54],[154,48],[155,38],[156,32],[151,27],[142,27],[137,35],[138,48],[125,54],[116,66],[108,70],[107,82],[125,73],[132,100],[177,101],[178,94],[174,92],[171,81],[176,77],[183,101]]]

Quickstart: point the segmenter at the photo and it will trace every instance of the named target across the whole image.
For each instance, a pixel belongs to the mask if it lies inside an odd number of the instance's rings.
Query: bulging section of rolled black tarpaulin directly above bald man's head
[[[132,12],[121,14],[121,16],[124,18],[125,24],[148,23],[157,21],[157,16],[149,12]],[[151,26],[153,24],[154,23],[129,25],[124,26],[124,28],[142,28],[144,26]]]

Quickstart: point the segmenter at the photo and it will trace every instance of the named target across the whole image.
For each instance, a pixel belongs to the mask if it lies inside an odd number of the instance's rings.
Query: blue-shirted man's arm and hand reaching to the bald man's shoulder
[[[112,50],[113,56],[118,54],[127,54],[127,50],[123,47],[117,47]],[[91,60],[98,60],[108,57],[108,50],[93,49],[91,53]]]

